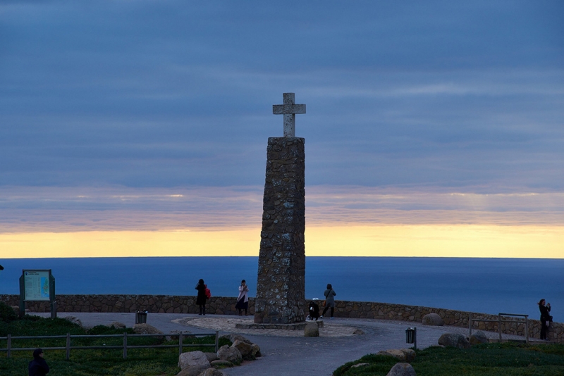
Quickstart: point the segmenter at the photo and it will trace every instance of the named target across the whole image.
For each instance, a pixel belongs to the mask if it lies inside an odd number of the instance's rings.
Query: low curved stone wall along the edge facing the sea
[[[0,295],[0,301],[10,306],[19,305],[19,295]],[[235,297],[214,296],[206,304],[206,313],[216,315],[236,315]],[[57,295],[57,312],[135,312],[149,313],[197,313],[195,296],[171,295]],[[320,303],[320,302],[318,302]],[[27,302],[25,308],[31,312],[50,312],[49,302]],[[323,309],[323,307],[320,307]],[[249,314],[255,313],[255,299],[249,299]],[[400,320],[421,322],[424,315],[437,313],[446,325],[468,327],[470,315],[473,319],[497,320],[497,315],[454,311],[442,308],[405,306],[403,304],[373,303],[368,301],[336,301],[335,317],[372,318],[380,320]],[[307,313],[305,313],[307,315]],[[329,314],[329,313],[328,313]],[[511,318],[506,318],[511,320]],[[476,330],[497,331],[498,322],[476,322]],[[525,335],[525,324],[518,319],[502,322],[504,334]],[[539,338],[541,322],[529,319],[529,337]],[[548,329],[548,339],[564,343],[564,324],[552,322]]]

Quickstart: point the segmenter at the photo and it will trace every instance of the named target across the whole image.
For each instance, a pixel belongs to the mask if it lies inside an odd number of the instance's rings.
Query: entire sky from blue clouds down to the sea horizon
[[[562,1],[2,1],[0,259],[257,256],[295,93],[307,256],[564,258]]]

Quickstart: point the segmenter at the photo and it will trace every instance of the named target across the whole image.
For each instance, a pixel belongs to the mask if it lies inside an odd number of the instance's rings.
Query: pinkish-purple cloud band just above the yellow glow
[[[564,194],[306,187],[308,226],[564,226]],[[2,232],[259,228],[262,187],[4,187]]]

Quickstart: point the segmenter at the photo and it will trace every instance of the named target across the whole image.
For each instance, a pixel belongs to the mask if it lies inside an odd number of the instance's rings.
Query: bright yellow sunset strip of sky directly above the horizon
[[[257,256],[259,228],[0,234],[1,258]],[[564,227],[309,226],[307,256],[564,258]]]

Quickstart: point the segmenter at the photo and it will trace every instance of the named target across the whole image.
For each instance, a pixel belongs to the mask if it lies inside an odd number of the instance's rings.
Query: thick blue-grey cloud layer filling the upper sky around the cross
[[[271,105],[307,184],[562,191],[560,2],[11,2],[0,185],[257,186]]]

